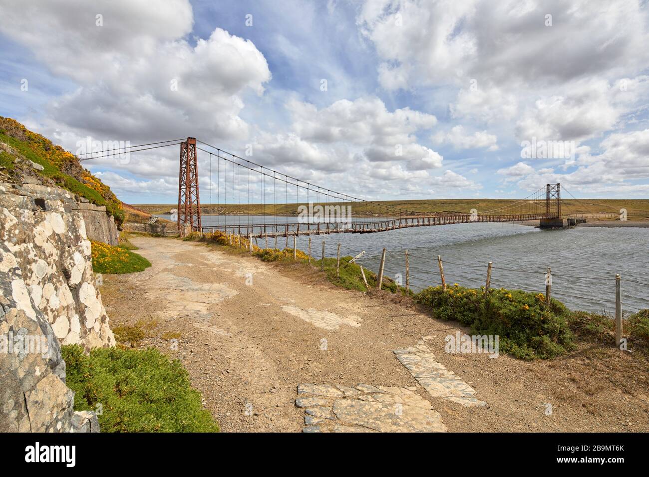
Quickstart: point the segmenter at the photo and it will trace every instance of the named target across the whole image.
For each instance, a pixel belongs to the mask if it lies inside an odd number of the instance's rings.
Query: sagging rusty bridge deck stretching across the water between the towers
[[[255,238],[273,238],[305,235],[327,234],[373,234],[387,232],[400,228],[424,227],[435,225],[450,225],[458,223],[479,222],[519,222],[525,220],[554,219],[555,214],[514,214],[514,215],[417,215],[398,217],[395,219],[356,221],[356,222],[310,222],[310,223],[261,223],[261,224],[230,224],[211,225],[201,228],[203,233],[215,231],[227,234],[249,236]]]

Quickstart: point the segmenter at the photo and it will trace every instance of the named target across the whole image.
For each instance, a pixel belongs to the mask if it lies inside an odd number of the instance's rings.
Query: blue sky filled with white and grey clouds
[[[6,0],[0,17],[0,114],[73,153],[195,136],[367,199],[649,197],[638,1]],[[125,202],[173,203],[177,157],[84,165]]]

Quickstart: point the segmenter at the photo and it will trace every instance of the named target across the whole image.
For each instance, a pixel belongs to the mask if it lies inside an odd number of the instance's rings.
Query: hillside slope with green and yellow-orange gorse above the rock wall
[[[36,164],[30,167],[29,162]],[[115,218],[121,229],[124,210],[121,201],[106,184],[84,169],[79,158],[55,145],[49,139],[30,131],[10,117],[0,116],[0,170],[9,177],[20,176],[29,169],[46,182],[56,184],[98,206]]]

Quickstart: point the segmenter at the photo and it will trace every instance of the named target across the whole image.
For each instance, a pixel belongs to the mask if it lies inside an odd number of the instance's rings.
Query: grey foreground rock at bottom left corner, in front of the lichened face
[[[24,276],[0,243],[0,432],[99,432],[95,413],[73,410],[60,345]]]

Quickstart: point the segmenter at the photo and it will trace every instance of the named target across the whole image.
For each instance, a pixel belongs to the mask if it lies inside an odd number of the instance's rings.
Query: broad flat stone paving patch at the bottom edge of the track
[[[446,432],[415,387],[300,384],[297,394],[302,432]]]

